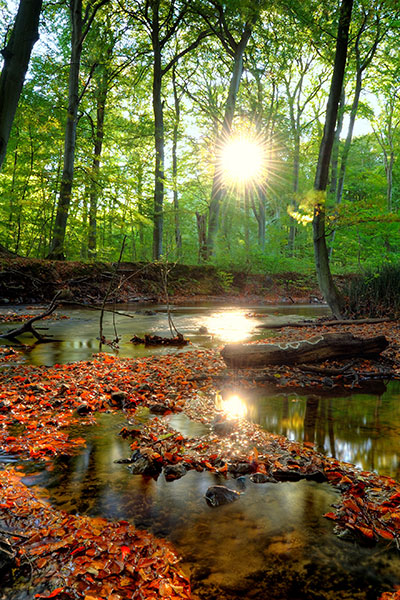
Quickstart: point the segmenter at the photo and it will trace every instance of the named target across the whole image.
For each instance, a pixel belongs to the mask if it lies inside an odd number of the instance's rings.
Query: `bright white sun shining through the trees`
[[[221,171],[225,181],[246,185],[255,183],[265,169],[265,149],[257,139],[231,138],[221,149]]]

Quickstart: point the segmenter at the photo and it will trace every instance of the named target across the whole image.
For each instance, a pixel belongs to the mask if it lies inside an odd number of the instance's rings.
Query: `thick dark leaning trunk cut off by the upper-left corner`
[[[25,81],[32,48],[39,39],[42,0],[21,0],[8,44],[1,54],[0,76],[0,169],[6,156],[11,127]]]

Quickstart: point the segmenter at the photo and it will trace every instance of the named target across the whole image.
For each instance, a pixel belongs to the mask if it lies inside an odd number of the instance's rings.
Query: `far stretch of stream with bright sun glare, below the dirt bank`
[[[1,308],[2,314],[16,310],[15,307]],[[96,352],[109,352],[122,357],[150,356],[182,352],[190,348],[214,348],[226,342],[246,341],[266,336],[265,330],[257,325],[266,322],[278,323],[288,320],[313,318],[329,313],[324,305],[282,305],[282,306],[247,306],[238,308],[232,306],[186,306],[171,307],[173,322],[185,338],[190,339],[191,345],[184,348],[150,347],[134,345],[130,339],[137,335],[143,337],[146,333],[170,337],[167,307],[162,305],[119,304],[119,312],[130,317],[106,313],[103,333],[109,340],[120,338],[119,348],[111,348],[99,343],[99,311],[85,308],[59,310],[69,318],[66,320],[40,321],[36,328],[54,341],[45,344],[35,344],[30,335],[20,338],[21,343],[31,347],[23,349],[26,360],[34,365],[51,366],[56,363],[68,363],[78,360],[89,360]],[[33,314],[39,310],[29,307],[18,307],[22,314]],[[144,311],[155,314],[146,315]],[[249,316],[256,313],[261,316]],[[199,333],[200,327],[206,327],[207,333]],[[3,333],[13,327],[10,323],[0,324]],[[7,343],[5,341],[5,343]]]

